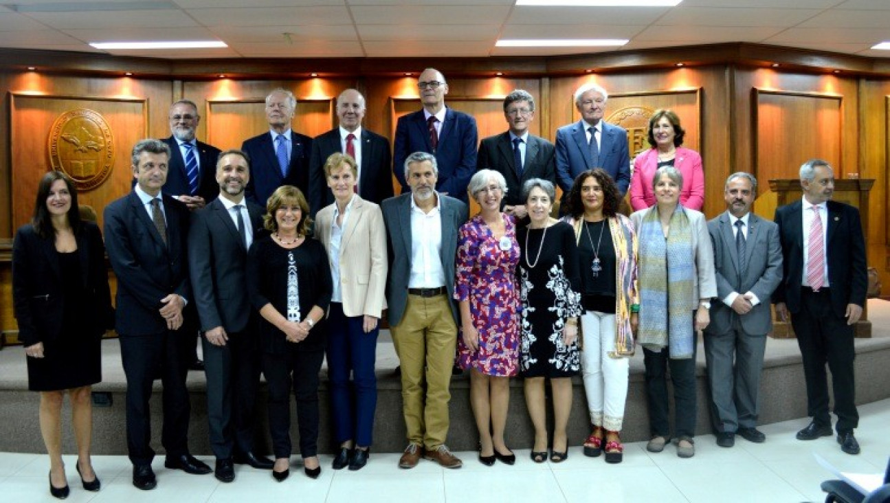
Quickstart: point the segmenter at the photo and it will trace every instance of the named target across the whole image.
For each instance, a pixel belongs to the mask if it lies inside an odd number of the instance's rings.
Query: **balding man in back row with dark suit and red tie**
[[[347,89],[336,99],[336,116],[340,126],[312,140],[309,160],[309,209],[314,217],[334,202],[325,178],[325,162],[334,153],[349,154],[359,165],[356,186],[361,199],[380,204],[392,198],[392,154],[389,141],[361,127],[365,117],[365,97],[355,89]]]

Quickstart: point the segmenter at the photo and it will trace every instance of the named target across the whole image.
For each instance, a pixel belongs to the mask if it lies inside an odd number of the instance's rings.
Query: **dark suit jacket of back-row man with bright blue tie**
[[[309,154],[312,151],[312,138],[294,130],[291,130],[290,134],[290,166],[287,166],[287,176],[281,175],[278,158],[275,157],[275,145],[272,143],[272,134],[269,131],[245,140],[241,145],[241,150],[250,157],[250,182],[245,189],[247,200],[266,207],[269,196],[281,185],[295,185],[303,191],[308,202]]]

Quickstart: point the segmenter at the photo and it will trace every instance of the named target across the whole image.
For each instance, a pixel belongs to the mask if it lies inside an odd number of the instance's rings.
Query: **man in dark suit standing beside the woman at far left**
[[[133,484],[156,486],[151,460],[149,399],[160,369],[164,385],[161,443],[167,468],[189,474],[210,467],[189,454],[189,393],[183,357],[194,345],[194,305],[186,263],[189,210],[161,193],[170,148],[159,140],[142,140],[133,148],[136,185],[105,207],[105,246],[117,276],[117,322],[126,376],[126,445],[133,462]]]

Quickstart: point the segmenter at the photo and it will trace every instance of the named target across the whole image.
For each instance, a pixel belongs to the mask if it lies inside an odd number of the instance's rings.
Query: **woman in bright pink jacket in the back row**
[[[634,211],[655,205],[652,192],[652,175],[661,166],[674,166],[683,174],[680,204],[701,211],[705,206],[705,173],[701,169],[701,156],[695,150],[685,149],[686,132],[680,126],[680,118],[671,110],[655,110],[649,118],[649,144],[634,160],[634,174],[630,181],[630,206]]]

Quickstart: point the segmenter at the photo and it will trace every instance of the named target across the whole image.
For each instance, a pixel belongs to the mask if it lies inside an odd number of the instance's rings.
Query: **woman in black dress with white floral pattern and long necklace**
[[[519,365],[525,377],[525,403],[535,426],[531,458],[543,463],[547,453],[544,379],[550,377],[554,401],[554,442],[550,459],[568,457],[566,425],[571,410],[571,376],[578,373],[578,252],[571,227],[550,218],[554,184],[532,178],[522,186],[531,222],[516,233],[522,248],[519,275],[522,337]]]

